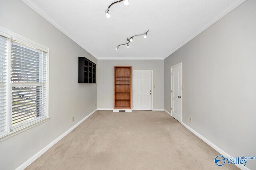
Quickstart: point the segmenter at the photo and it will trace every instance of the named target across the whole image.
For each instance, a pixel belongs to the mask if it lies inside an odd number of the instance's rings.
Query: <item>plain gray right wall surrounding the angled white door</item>
[[[256,154],[255,9],[247,0],[164,60],[164,108],[170,67],[182,62],[182,121],[234,157]]]

